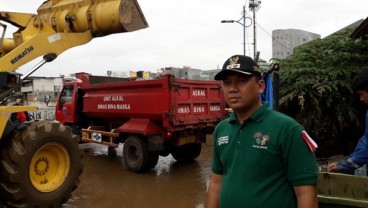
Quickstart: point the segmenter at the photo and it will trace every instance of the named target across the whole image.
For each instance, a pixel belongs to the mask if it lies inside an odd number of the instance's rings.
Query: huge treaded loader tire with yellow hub
[[[0,145],[1,201],[9,207],[60,207],[83,171],[79,138],[53,121],[11,135]]]

